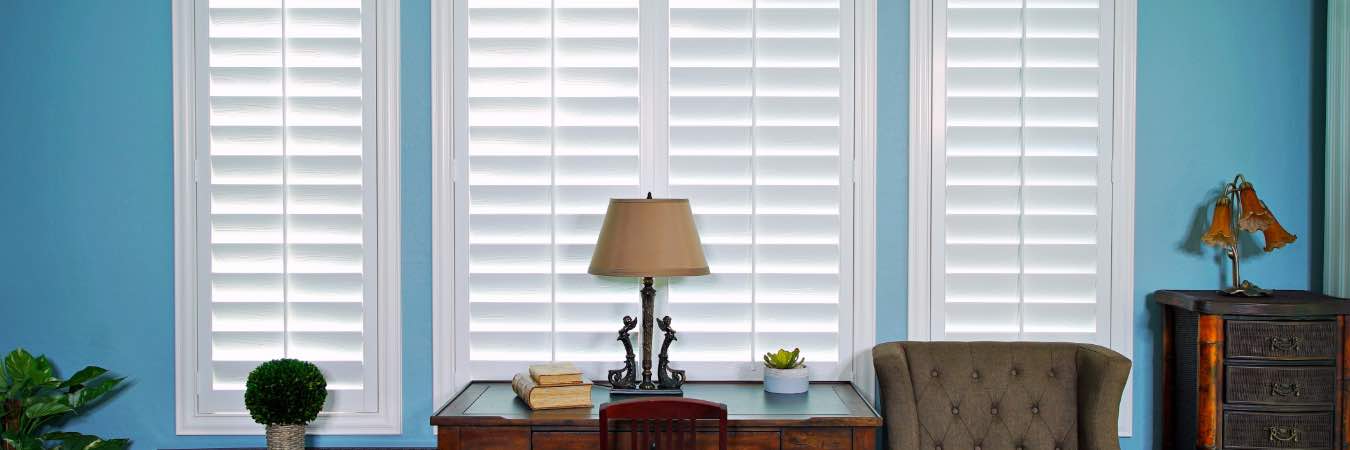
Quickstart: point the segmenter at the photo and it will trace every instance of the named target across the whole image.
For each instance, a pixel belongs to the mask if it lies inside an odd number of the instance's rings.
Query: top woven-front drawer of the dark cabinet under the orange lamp
[[[1338,326],[1331,320],[1268,322],[1230,320],[1228,358],[1332,359],[1336,357]]]

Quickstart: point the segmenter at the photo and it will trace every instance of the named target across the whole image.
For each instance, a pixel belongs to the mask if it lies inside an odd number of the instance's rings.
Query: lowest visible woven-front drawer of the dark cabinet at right
[[[1334,449],[1332,412],[1227,412],[1223,446],[1234,449]]]

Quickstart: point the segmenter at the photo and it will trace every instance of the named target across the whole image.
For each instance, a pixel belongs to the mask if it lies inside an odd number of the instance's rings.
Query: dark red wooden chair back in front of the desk
[[[626,422],[628,450],[686,450],[698,443],[698,422],[717,420],[717,449],[726,450],[726,405],[695,399],[633,399],[599,407],[601,450],[610,446],[610,422]],[[617,431],[617,427],[616,427]]]

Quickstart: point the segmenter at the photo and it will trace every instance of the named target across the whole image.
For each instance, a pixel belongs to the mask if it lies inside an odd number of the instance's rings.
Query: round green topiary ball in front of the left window
[[[328,399],[328,381],[310,362],[273,359],[248,373],[244,407],[261,424],[306,424]]]

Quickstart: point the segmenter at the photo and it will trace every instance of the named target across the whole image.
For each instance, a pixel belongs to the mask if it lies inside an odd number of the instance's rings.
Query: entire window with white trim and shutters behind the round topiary
[[[259,434],[248,372],[315,362],[315,431],[401,431],[397,1],[184,0],[180,434]]]

